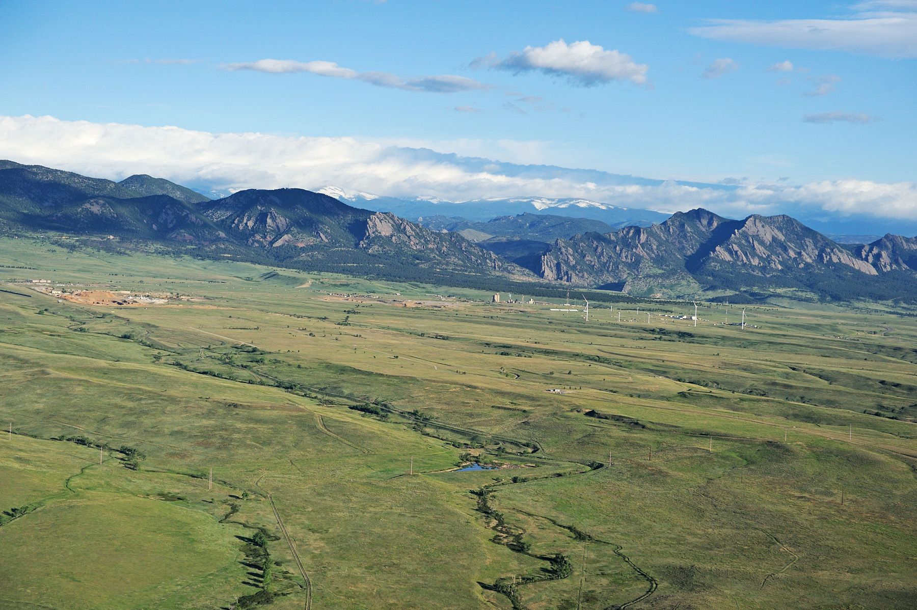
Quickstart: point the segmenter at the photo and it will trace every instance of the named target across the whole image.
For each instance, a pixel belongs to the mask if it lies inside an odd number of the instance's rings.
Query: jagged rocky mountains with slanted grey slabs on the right
[[[840,245],[790,216],[730,220],[697,209],[650,227],[558,239],[541,278],[646,296],[735,291],[836,300],[912,299],[917,238]]]

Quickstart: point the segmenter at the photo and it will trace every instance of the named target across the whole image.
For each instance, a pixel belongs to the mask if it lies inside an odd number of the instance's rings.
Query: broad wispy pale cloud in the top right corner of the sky
[[[836,19],[708,19],[688,31],[702,38],[789,49],[917,57],[917,3],[862,2],[853,8],[852,15]]]

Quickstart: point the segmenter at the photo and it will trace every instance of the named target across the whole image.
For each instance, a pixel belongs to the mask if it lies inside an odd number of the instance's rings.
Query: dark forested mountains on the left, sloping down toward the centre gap
[[[321,193],[249,190],[211,201],[168,180],[114,182],[12,161],[0,161],[0,231],[112,236],[198,256],[403,279],[536,279],[461,235]]]

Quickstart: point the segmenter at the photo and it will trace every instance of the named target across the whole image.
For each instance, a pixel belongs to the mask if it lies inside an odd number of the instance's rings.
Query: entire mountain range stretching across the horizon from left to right
[[[702,209],[643,224],[536,212],[414,223],[301,189],[210,200],[145,175],[115,182],[0,161],[4,234],[105,237],[93,243],[481,287],[525,282],[734,301],[917,300],[917,238],[887,234],[842,245],[790,216],[732,220]]]

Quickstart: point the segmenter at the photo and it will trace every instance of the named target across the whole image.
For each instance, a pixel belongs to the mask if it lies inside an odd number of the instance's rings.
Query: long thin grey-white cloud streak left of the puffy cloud
[[[474,91],[492,88],[492,85],[478,82],[464,76],[455,76],[453,74],[439,74],[436,76],[403,79],[391,72],[359,72],[344,68],[343,66],[338,66],[334,61],[321,60],[257,60],[240,63],[224,63],[220,65],[220,68],[227,71],[250,70],[266,72],[268,74],[310,72],[329,78],[368,82],[378,87],[390,87],[392,89],[402,89],[403,91],[430,93],[456,93],[459,91]]]

